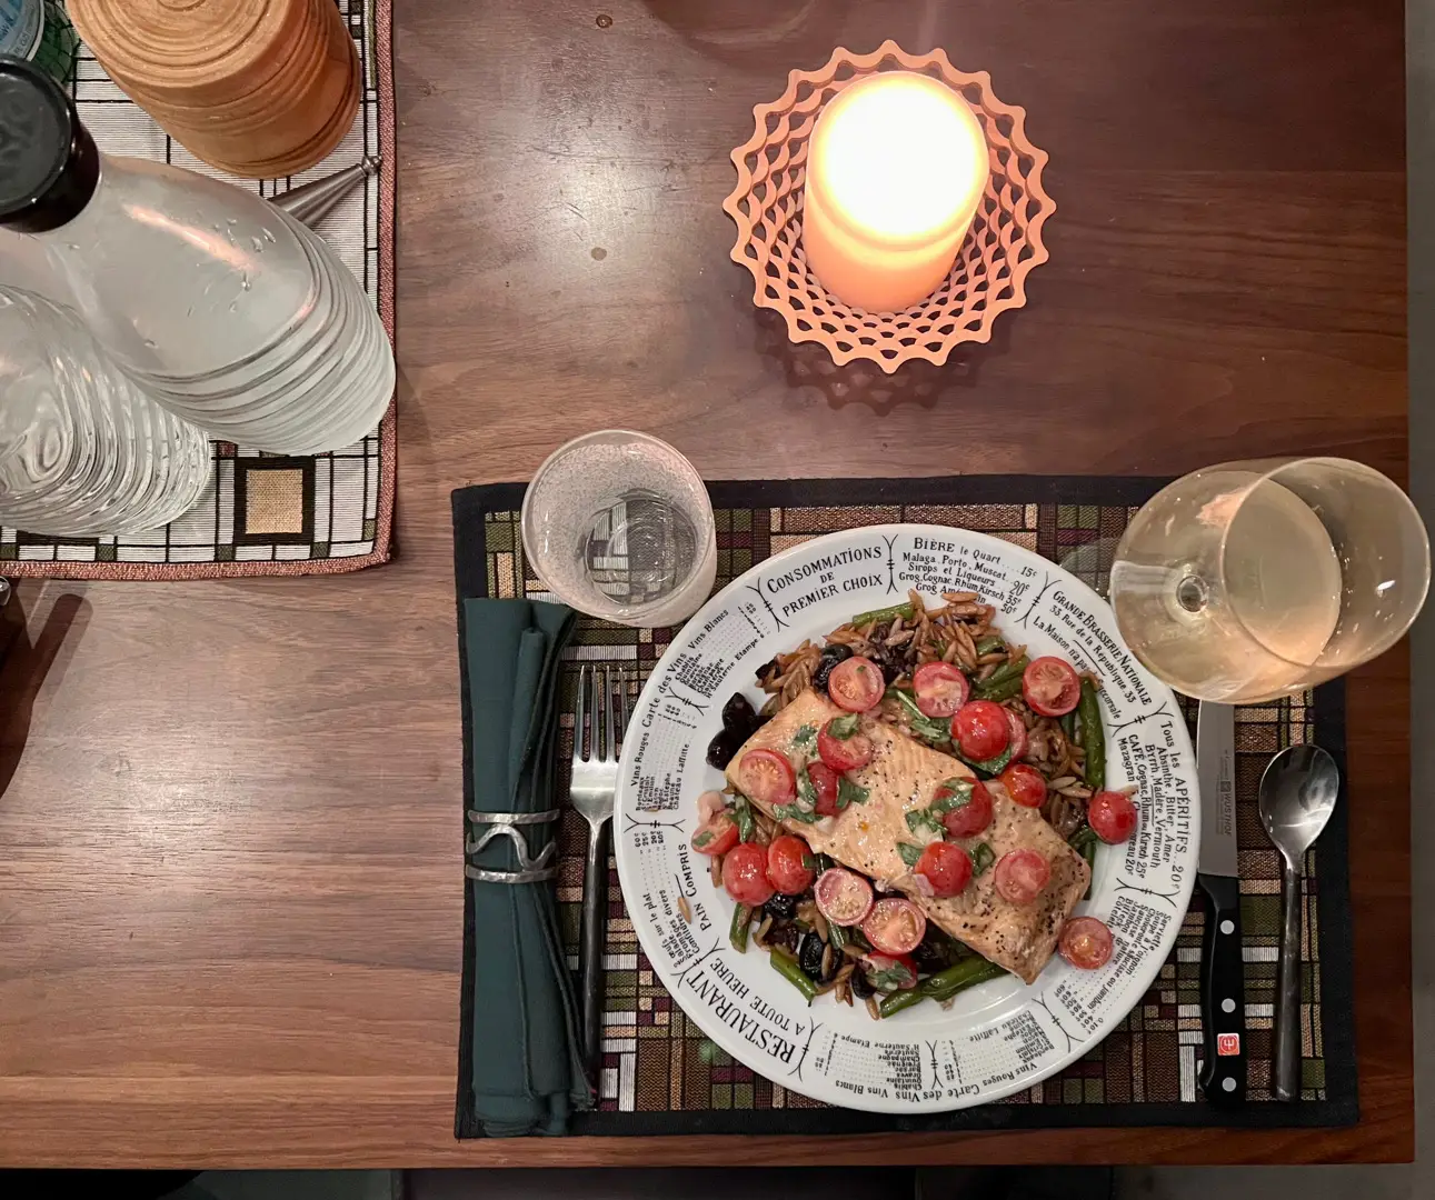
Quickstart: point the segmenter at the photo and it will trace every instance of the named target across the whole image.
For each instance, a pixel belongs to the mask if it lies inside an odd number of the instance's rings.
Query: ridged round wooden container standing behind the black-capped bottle
[[[205,162],[267,179],[324,159],[362,67],[334,0],[69,0],[100,65]]]

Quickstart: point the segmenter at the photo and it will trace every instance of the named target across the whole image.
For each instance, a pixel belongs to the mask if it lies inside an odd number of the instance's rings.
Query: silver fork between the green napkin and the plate
[[[618,747],[627,728],[627,674],[618,672],[618,723],[613,723],[613,675],[603,668],[578,671],[578,704],[573,717],[573,783],[568,797],[588,822],[588,856],[583,867],[583,942],[578,992],[583,1004],[584,1064],[598,1087],[603,1062],[603,932],[608,910],[608,819],[618,786]],[[587,711],[585,711],[587,710]],[[584,715],[593,725],[588,757],[583,757]],[[601,725],[601,728],[600,728]],[[600,737],[601,734],[601,737]]]

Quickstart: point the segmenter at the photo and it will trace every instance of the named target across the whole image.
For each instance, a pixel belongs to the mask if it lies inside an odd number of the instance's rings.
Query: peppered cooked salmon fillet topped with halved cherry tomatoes
[[[756,748],[776,750],[801,771],[817,758],[817,731],[832,717],[847,714],[827,697],[808,688],[743,743],[728,764],[728,781],[740,791],[738,764],[743,754]],[[1086,893],[1091,883],[1086,860],[1036,809],[1015,803],[1006,789],[994,786],[989,789],[992,824],[976,837],[956,842],[969,853],[986,842],[996,859],[1009,850],[1036,850],[1052,867],[1040,896],[1030,905],[1006,900],[996,890],[994,866],[974,877],[960,896],[921,895],[897,843],[923,844],[933,834],[914,834],[905,814],[928,807],[943,781],[974,776],[964,763],[923,746],[885,721],[864,717],[862,733],[872,740],[872,761],[847,774],[867,789],[864,803],[848,804],[835,817],[811,824],[779,819],[771,806],[755,797],[749,797],[751,803],[805,839],[815,852],[901,892],[959,942],[1027,984],[1033,982],[1056,949],[1062,925]]]

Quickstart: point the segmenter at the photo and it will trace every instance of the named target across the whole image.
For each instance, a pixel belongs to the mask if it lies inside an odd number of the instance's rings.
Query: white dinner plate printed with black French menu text
[[[723,777],[705,761],[722,707],[762,703],[756,670],[857,612],[928,605],[969,589],[1036,658],[1056,654],[1102,681],[1106,786],[1137,784],[1139,824],[1101,846],[1091,899],[1115,953],[1101,971],[1053,956],[1027,986],[1007,976],[884,1021],[829,995],[811,1006],[756,946],[728,943],[733,903],[689,847],[697,796]],[[815,538],[735,579],[683,627],[653,670],[623,746],[614,839],[623,896],[662,984],[719,1047],[794,1091],[877,1113],[937,1113],[1000,1100],[1060,1071],[1141,1001],[1165,962],[1195,882],[1195,757],[1171,690],[1124,647],[1111,608],[1049,561],[1009,542],[933,525]],[[686,920],[679,897],[692,920]]]

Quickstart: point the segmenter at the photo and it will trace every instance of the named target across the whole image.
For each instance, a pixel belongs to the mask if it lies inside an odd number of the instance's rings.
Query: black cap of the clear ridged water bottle
[[[0,225],[57,229],[96,184],[99,151],[75,102],[33,63],[0,54]]]

